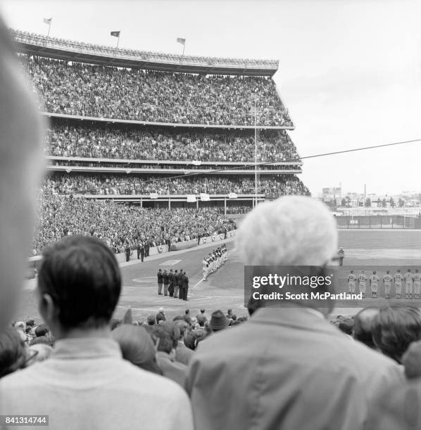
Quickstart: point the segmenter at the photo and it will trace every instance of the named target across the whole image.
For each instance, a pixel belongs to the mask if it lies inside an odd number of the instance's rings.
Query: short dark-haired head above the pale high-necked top
[[[53,323],[62,330],[108,325],[121,291],[120,269],[111,249],[91,236],[70,236],[45,249],[43,256],[40,313],[44,316],[47,295],[57,312]]]

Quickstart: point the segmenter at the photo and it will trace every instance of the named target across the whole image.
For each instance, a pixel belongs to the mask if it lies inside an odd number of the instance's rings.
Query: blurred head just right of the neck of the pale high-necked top
[[[163,374],[156,363],[153,341],[144,327],[123,324],[111,333],[111,337],[120,345],[122,358],[140,369]]]

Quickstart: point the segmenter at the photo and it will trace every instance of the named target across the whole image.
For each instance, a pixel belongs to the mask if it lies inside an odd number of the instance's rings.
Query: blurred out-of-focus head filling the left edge
[[[0,17],[0,330],[25,277],[37,187],[44,171],[42,119]]]

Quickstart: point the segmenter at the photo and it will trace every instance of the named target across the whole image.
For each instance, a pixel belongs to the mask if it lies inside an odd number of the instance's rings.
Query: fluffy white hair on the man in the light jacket
[[[246,266],[323,266],[337,251],[336,221],[311,197],[279,197],[249,212],[236,248]]]

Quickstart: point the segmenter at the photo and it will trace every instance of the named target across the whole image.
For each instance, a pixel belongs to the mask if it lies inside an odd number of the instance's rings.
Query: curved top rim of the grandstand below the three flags
[[[268,77],[275,74],[279,67],[279,61],[277,60],[180,56],[170,53],[87,44],[20,30],[9,29],[9,31],[15,40],[17,51],[20,53],[79,63],[139,67],[167,72],[240,74]]]

